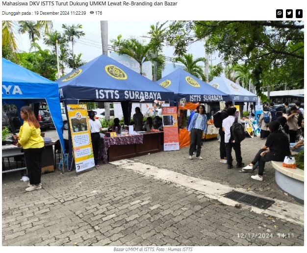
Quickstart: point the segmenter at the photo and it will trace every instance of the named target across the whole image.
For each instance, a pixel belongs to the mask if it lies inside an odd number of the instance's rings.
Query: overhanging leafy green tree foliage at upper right
[[[208,53],[219,52],[226,65],[245,63],[257,95],[262,87],[287,83],[304,87],[304,23],[300,21],[179,21],[170,25],[167,43],[175,55],[205,41]],[[274,83],[267,83],[274,72]]]

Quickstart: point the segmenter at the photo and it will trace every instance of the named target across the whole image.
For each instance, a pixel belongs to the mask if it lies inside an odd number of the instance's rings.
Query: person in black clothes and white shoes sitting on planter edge
[[[281,124],[277,120],[269,123],[270,135],[265,144],[257,152],[254,160],[243,170],[252,170],[256,162],[259,162],[258,174],[252,179],[263,181],[263,170],[267,161],[283,161],[285,156],[290,155],[289,141],[287,136],[281,131]]]

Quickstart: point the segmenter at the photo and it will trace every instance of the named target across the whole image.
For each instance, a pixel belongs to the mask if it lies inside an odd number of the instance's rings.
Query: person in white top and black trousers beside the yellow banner
[[[94,161],[95,167],[98,167],[98,151],[99,151],[99,141],[100,141],[100,134],[99,132],[102,131],[102,125],[99,120],[95,119],[95,112],[89,111],[88,116],[90,117],[90,131],[91,131],[91,139],[92,139],[92,147],[94,153]]]

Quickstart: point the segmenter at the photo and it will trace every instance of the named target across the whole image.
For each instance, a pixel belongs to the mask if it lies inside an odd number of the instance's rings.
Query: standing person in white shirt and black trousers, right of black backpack
[[[237,168],[241,168],[244,165],[244,162],[242,162],[242,156],[241,156],[241,143],[236,142],[235,137],[231,134],[231,127],[235,120],[237,120],[237,123],[241,123],[241,121],[238,118],[235,118],[235,112],[236,112],[235,107],[229,107],[227,109],[227,113],[229,116],[223,120],[222,126],[223,126],[223,131],[225,132],[225,148],[226,148],[226,157],[227,157],[227,168],[232,169],[232,156],[231,156],[231,151],[232,148],[235,153],[235,160],[237,161]]]

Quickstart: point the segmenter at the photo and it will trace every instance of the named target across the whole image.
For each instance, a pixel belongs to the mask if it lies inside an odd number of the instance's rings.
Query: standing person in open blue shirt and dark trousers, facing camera
[[[193,115],[191,123],[188,127],[190,135],[189,159],[193,159],[195,146],[197,146],[196,158],[199,160],[203,160],[203,158],[201,157],[202,137],[203,131],[205,134],[207,133],[207,116],[205,115],[204,105],[201,104],[196,109],[197,112]]]

